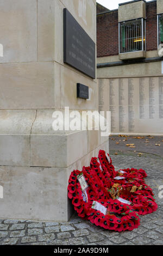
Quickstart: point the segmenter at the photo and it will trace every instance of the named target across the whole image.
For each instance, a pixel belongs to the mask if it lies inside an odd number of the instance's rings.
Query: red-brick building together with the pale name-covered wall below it
[[[162,135],[163,0],[97,13],[99,109],[112,133]]]

